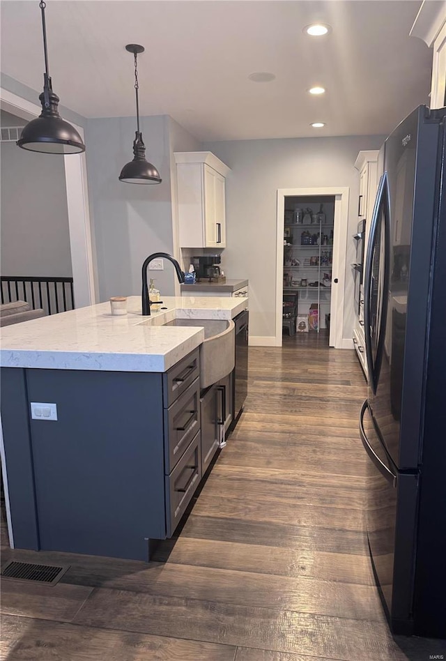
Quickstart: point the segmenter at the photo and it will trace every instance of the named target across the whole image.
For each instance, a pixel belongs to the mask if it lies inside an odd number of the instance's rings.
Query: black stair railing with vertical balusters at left
[[[29,275],[0,276],[1,303],[26,301],[33,310],[47,314],[75,309],[72,278],[37,278]]]

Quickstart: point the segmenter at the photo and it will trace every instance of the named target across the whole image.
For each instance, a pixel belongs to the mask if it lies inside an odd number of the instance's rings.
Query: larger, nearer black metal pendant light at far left
[[[39,3],[42,10],[43,50],[45,52],[45,74],[43,75],[43,93],[39,100],[42,104],[42,114],[26,124],[17,140],[18,146],[29,151],[40,151],[49,154],[78,154],[85,151],[77,130],[59,115],[57,105],[59,96],[52,90],[51,77],[48,70],[47,31],[45,27],[45,2]]]

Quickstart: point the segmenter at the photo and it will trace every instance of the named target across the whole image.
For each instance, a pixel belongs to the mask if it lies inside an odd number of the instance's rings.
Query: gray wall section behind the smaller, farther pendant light
[[[88,119],[86,161],[90,213],[98,259],[100,301],[141,294],[141,265],[152,252],[172,252],[171,182],[167,116],[141,117],[146,158],[162,183],[134,185],[118,176],[133,158],[134,117]],[[156,271],[157,288],[174,294],[170,264]]]

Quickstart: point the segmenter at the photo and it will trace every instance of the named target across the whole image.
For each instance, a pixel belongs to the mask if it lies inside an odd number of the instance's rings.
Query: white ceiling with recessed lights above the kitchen
[[[387,134],[429,103],[432,52],[409,36],[417,0],[48,0],[49,71],[86,117],[169,114],[205,140]],[[332,33],[302,28],[319,20]],[[38,0],[1,2],[1,70],[39,92]],[[250,73],[276,75],[255,83]],[[322,85],[323,97],[307,89]],[[321,130],[312,121],[325,121]]]

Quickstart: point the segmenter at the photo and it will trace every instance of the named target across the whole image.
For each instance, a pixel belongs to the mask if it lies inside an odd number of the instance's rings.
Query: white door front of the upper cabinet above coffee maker
[[[225,248],[224,176],[203,165],[204,247]]]

